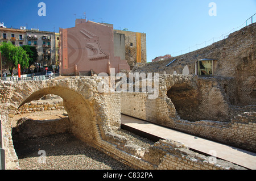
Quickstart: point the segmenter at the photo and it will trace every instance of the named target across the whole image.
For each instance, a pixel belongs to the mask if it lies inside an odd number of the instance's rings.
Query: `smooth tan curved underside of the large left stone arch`
[[[73,90],[59,87],[42,89],[32,93],[19,107],[32,100],[39,100],[42,96],[47,94],[55,94],[63,98],[63,106],[69,116],[70,131],[75,134],[76,137],[81,138],[81,140],[88,143],[92,142],[95,138],[92,124],[92,106],[90,106],[88,100],[84,99]]]

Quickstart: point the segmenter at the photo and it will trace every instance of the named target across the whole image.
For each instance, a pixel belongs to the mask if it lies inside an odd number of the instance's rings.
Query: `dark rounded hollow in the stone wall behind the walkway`
[[[167,91],[168,98],[175,106],[177,115],[188,121],[199,121],[201,96],[198,89],[187,83],[176,84]]]

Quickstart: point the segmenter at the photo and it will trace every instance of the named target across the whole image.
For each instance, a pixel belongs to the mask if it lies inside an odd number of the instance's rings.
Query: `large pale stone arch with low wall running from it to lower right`
[[[69,131],[82,141],[101,149],[106,154],[120,159],[127,165],[138,169],[244,169],[230,162],[217,159],[210,163],[209,158],[191,152],[187,147],[170,140],[156,142],[152,148],[144,150],[134,145],[125,136],[115,133],[120,127],[121,116],[119,93],[100,94],[97,83],[101,78],[79,77],[48,81],[19,81],[0,83],[1,123],[3,133],[3,149],[5,149],[6,169],[19,169],[18,157],[13,146],[11,120],[13,111],[23,104],[38,100],[44,95],[54,94],[63,98],[63,105],[69,119],[63,121],[44,121],[44,123],[28,121],[31,128],[38,130],[42,125],[48,132],[33,132],[25,129],[24,137],[42,133],[51,134],[58,131]],[[11,115],[11,116],[9,116]],[[63,123],[63,125],[60,125]],[[24,123],[26,125],[26,122]],[[155,155],[152,157],[151,155]]]

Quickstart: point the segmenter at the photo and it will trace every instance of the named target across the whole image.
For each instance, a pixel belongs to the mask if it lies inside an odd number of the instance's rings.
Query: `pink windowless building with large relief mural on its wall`
[[[60,28],[61,75],[90,75],[130,70],[126,60],[114,56],[113,27],[76,19],[73,28]]]

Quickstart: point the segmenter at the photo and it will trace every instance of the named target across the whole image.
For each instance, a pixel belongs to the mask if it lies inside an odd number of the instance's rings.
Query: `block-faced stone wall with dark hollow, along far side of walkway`
[[[123,92],[121,113],[255,151],[256,109],[230,104],[232,82],[232,78],[160,75],[158,98],[148,99],[144,92]],[[147,102],[155,104],[141,111]]]

